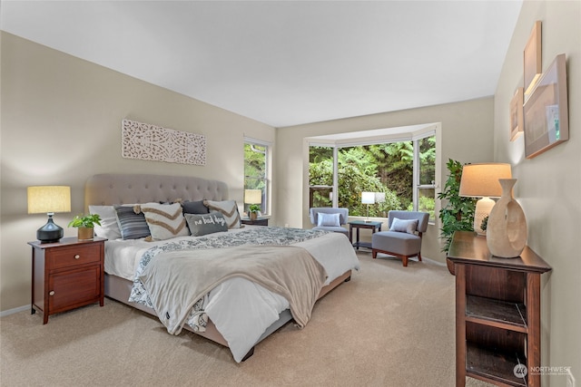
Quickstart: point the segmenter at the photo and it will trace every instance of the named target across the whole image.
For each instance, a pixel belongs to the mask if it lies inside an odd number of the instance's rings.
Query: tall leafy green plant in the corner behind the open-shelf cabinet
[[[446,200],[446,205],[439,210],[442,222],[440,237],[446,239],[442,251],[448,253],[452,236],[456,231],[474,231],[474,210],[476,198],[466,198],[459,195],[460,179],[462,179],[463,165],[457,160],[448,160],[448,179],[442,192],[438,194],[440,200]],[[448,271],[454,274],[454,265],[447,259]]]

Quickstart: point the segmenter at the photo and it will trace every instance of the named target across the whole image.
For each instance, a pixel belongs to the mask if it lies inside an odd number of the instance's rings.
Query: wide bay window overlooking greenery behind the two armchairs
[[[435,219],[436,136],[369,144],[310,143],[310,207],[346,207],[350,216],[387,218],[390,209],[426,211]],[[361,192],[376,193],[372,205]],[[333,198],[336,197],[336,201]]]

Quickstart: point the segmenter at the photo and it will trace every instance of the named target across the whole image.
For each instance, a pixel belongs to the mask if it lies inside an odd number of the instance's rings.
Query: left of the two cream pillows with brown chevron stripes
[[[145,203],[140,208],[141,212],[145,214],[145,220],[153,240],[165,240],[171,237],[189,235],[180,203]]]

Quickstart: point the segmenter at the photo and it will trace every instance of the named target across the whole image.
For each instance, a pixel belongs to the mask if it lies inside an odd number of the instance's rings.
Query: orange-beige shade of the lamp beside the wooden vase
[[[468,164],[462,169],[459,195],[471,198],[500,198],[498,179],[511,179],[510,164]]]

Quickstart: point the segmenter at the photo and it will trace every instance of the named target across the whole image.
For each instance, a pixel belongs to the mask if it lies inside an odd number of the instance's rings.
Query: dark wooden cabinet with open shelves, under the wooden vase
[[[488,251],[486,237],[457,231],[456,385],[466,376],[501,386],[541,385],[540,277],[551,270],[525,247],[517,258]]]

